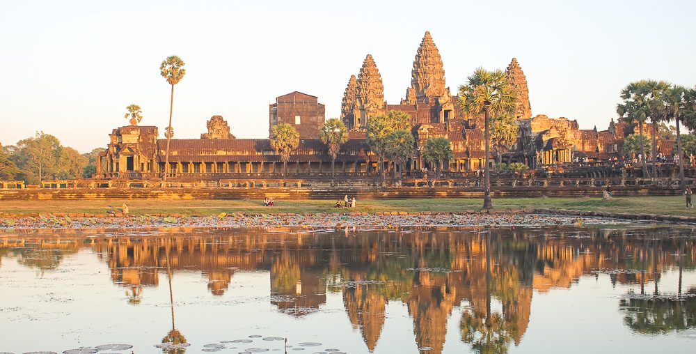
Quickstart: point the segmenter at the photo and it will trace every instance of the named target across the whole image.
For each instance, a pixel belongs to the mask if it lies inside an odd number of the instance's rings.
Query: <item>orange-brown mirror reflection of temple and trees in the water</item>
[[[534,291],[567,288],[580,276],[598,272],[608,273],[614,284],[641,284],[646,291],[644,284],[657,286],[661,273],[677,263],[693,269],[693,239],[666,237],[677,231],[669,232],[560,228],[346,236],[232,230],[87,241],[0,239],[0,256],[49,269],[66,254],[90,248],[108,263],[115,284],[138,289],[159,284],[168,254],[173,272],[202,272],[214,295],[228,291],[235,272],[266,271],[271,303],[290,316],[305,316],[326,302],[327,291],[340,291],[349,321],[370,351],[379,341],[388,302],[406,305],[416,344],[432,348],[429,353],[441,353],[448,318],[460,307],[461,339],[483,352],[520,343]],[[501,306],[493,310],[491,299]],[[631,304],[622,306],[648,306]],[[668,305],[649,306],[677,306]]]

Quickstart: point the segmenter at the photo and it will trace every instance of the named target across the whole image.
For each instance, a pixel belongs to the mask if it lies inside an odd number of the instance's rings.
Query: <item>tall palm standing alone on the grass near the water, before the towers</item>
[[[512,113],[517,102],[506,77],[505,72],[500,69],[489,71],[477,68],[473,75],[467,78],[467,84],[459,86],[459,106],[461,109],[471,115],[483,114],[485,118],[486,165],[484,167],[483,207],[486,209],[493,208],[490,169],[491,132],[489,128],[491,115],[502,116]]]

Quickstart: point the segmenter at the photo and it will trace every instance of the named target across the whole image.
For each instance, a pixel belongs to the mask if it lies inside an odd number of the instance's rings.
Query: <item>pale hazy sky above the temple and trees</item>
[[[0,2],[0,143],[36,130],[81,152],[127,125],[166,127],[170,88],[159,64],[176,54],[175,137],[197,138],[213,115],[237,137],[266,137],[268,104],[317,95],[340,114],[366,54],[387,102],[411,82],[430,31],[456,91],[477,68],[515,56],[533,114],[606,129],[636,79],[696,84],[696,1],[11,1]]]

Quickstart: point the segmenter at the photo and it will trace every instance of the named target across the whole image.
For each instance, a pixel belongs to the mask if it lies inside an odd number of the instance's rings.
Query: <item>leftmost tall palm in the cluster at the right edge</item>
[[[616,106],[619,117],[628,124],[638,124],[638,135],[640,141],[643,140],[643,125],[647,121],[650,114],[650,98],[647,90],[647,81],[640,80],[631,82],[621,91],[621,98],[624,102]],[[643,167],[643,176],[648,175],[647,158],[645,158],[645,149],[643,144],[640,144],[640,155]]]

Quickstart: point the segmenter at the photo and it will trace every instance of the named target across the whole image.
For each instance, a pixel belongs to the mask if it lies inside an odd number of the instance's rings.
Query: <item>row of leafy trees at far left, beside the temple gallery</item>
[[[97,172],[97,156],[104,150],[95,148],[81,154],[62,146],[53,135],[36,132],[17,145],[0,145],[0,180],[37,184],[42,180],[91,178]]]

